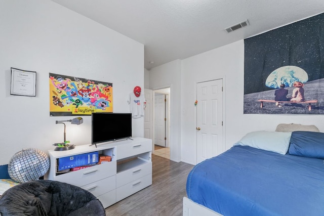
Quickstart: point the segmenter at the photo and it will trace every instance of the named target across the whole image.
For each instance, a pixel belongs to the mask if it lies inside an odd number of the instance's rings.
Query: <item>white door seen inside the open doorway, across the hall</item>
[[[166,96],[164,94],[154,95],[154,144],[166,146]]]

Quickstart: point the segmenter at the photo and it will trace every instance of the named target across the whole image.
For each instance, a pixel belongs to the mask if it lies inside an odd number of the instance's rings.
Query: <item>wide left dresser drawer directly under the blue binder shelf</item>
[[[55,176],[54,180],[82,187],[91,182],[96,182],[116,175],[116,164],[115,160],[108,163],[98,164],[85,169]]]

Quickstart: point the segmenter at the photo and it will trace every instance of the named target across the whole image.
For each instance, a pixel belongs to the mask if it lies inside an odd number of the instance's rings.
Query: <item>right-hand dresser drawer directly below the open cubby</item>
[[[146,162],[134,168],[118,172],[116,175],[117,188],[152,174],[152,162]]]

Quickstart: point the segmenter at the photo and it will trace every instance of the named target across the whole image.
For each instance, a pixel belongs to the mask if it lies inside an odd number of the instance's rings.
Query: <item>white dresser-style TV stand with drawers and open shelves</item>
[[[58,171],[62,157],[98,152],[111,161],[76,171]],[[152,140],[132,138],[98,145],[80,145],[68,151],[49,151],[45,179],[76,185],[93,193],[106,208],[152,184]]]

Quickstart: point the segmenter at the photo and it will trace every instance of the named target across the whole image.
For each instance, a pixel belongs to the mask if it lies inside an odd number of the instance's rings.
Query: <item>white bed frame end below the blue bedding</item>
[[[197,216],[197,215],[204,215],[204,216],[223,216],[212,209],[205,207],[204,205],[200,205],[187,197],[183,197],[183,216]]]

